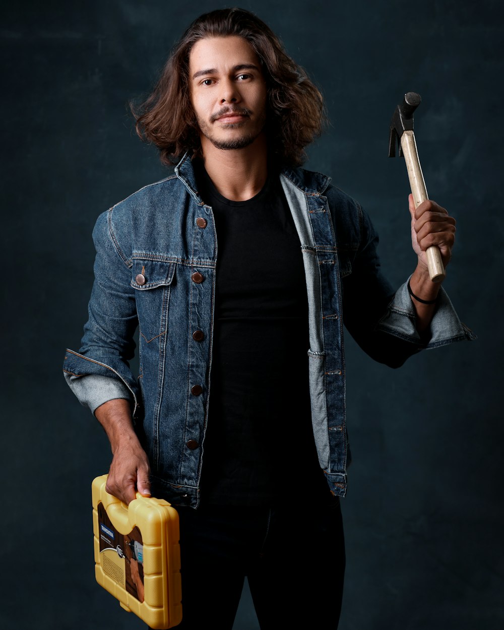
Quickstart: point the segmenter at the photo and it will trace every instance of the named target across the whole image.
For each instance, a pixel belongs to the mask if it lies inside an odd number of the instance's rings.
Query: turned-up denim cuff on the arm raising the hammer
[[[386,314],[376,328],[423,348],[438,348],[454,341],[476,339],[473,331],[460,321],[443,287],[440,287],[430,328],[420,336],[416,330],[416,311],[408,292],[408,282],[396,291]]]

